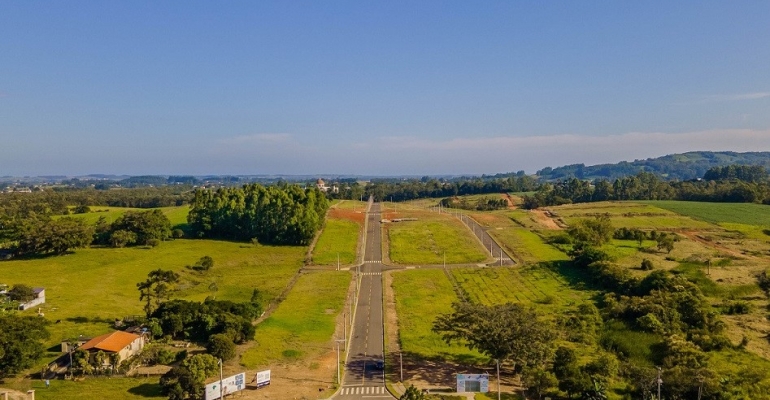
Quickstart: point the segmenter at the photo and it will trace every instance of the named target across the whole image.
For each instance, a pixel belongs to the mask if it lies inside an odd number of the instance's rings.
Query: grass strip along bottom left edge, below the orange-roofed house
[[[46,389],[42,380],[7,381],[2,386],[26,393],[35,391],[36,399],[115,399],[138,400],[166,398],[160,393],[158,377],[142,378],[96,378],[87,377],[83,381],[51,380]]]

